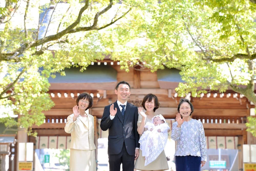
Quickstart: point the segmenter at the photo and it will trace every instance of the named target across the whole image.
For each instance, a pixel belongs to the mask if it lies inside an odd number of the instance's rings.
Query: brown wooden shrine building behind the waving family
[[[56,137],[58,142],[66,141],[66,144],[57,144],[56,148],[67,148],[70,134],[64,131],[66,118],[72,114],[72,107],[76,105],[78,93],[83,91],[93,95],[94,104],[89,109],[89,113],[95,118],[94,142],[97,147],[97,139],[102,136],[98,119],[102,117],[104,106],[117,100],[114,89],[116,84],[123,80],[131,85],[131,95],[128,99],[130,103],[141,106],[144,96],[153,93],[160,101],[160,108],[156,112],[162,114],[166,119],[173,119],[171,122],[174,122],[180,99],[175,88],[179,82],[183,82],[179,71],[176,69],[166,68],[152,73],[150,70],[134,67],[130,68],[129,72],[125,72],[120,69],[119,62],[105,59],[92,63],[84,72],[79,72],[79,68],[67,69],[65,72],[65,77],[57,75],[55,79],[49,80],[51,84],[49,94],[55,106],[44,112],[46,116],[44,124],[39,127],[33,126],[33,131],[38,133],[39,138],[52,136]],[[191,116],[194,119],[200,119],[207,137],[214,137],[216,140],[219,136],[237,138],[234,148],[239,149],[239,168],[242,168],[242,145],[256,144],[255,137],[246,131],[245,125],[246,117],[250,115],[250,111],[255,106],[242,94],[230,90],[226,93],[201,94],[200,98],[193,98],[188,95],[187,98],[191,99],[195,108]],[[37,140],[39,140],[38,137]],[[58,137],[61,137],[62,140]],[[35,142],[35,138],[29,137],[29,141]],[[35,148],[39,148],[40,143],[37,141]],[[49,148],[49,142],[47,147]],[[225,147],[224,145],[223,148]],[[216,148],[219,146],[216,145]]]

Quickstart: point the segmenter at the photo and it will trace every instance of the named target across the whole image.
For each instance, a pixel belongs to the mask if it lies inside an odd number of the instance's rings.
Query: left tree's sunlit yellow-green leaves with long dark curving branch
[[[137,18],[132,10],[143,4],[141,0],[5,1],[0,10],[0,107],[8,111],[1,110],[0,122],[25,129],[42,124],[42,111],[54,106],[47,93],[48,78],[56,72],[65,76],[65,68],[83,71],[102,60],[114,46],[105,47],[104,38],[111,38],[106,28],[119,27],[120,20],[132,23]]]

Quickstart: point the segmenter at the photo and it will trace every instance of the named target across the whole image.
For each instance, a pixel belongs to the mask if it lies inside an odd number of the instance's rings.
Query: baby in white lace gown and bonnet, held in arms
[[[159,114],[152,118],[152,123],[147,122],[144,126],[146,131],[140,137],[140,149],[145,156],[145,166],[153,162],[162,153],[168,138],[170,127],[164,117]]]

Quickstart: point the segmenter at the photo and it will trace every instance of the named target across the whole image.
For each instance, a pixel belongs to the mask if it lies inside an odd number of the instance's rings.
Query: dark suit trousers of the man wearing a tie
[[[111,155],[109,154],[109,170],[120,171],[120,165],[122,163],[123,171],[133,171],[134,158],[135,158],[134,155],[129,155],[127,153],[125,143],[123,143],[122,150],[119,154],[111,154]]]

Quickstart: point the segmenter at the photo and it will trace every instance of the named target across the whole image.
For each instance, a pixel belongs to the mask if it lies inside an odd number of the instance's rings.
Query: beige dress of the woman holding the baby
[[[142,121],[142,116],[139,114],[138,122],[137,122],[138,127],[141,125],[141,121]],[[145,124],[147,122],[152,122],[152,119],[148,119],[146,117]],[[144,131],[145,131],[145,128],[144,128]],[[137,170],[168,170],[169,169],[164,151],[155,159],[155,161],[151,162],[147,166],[144,166],[145,160],[141,154],[142,154],[142,151],[140,150],[140,155],[135,161],[134,169],[137,169]]]

